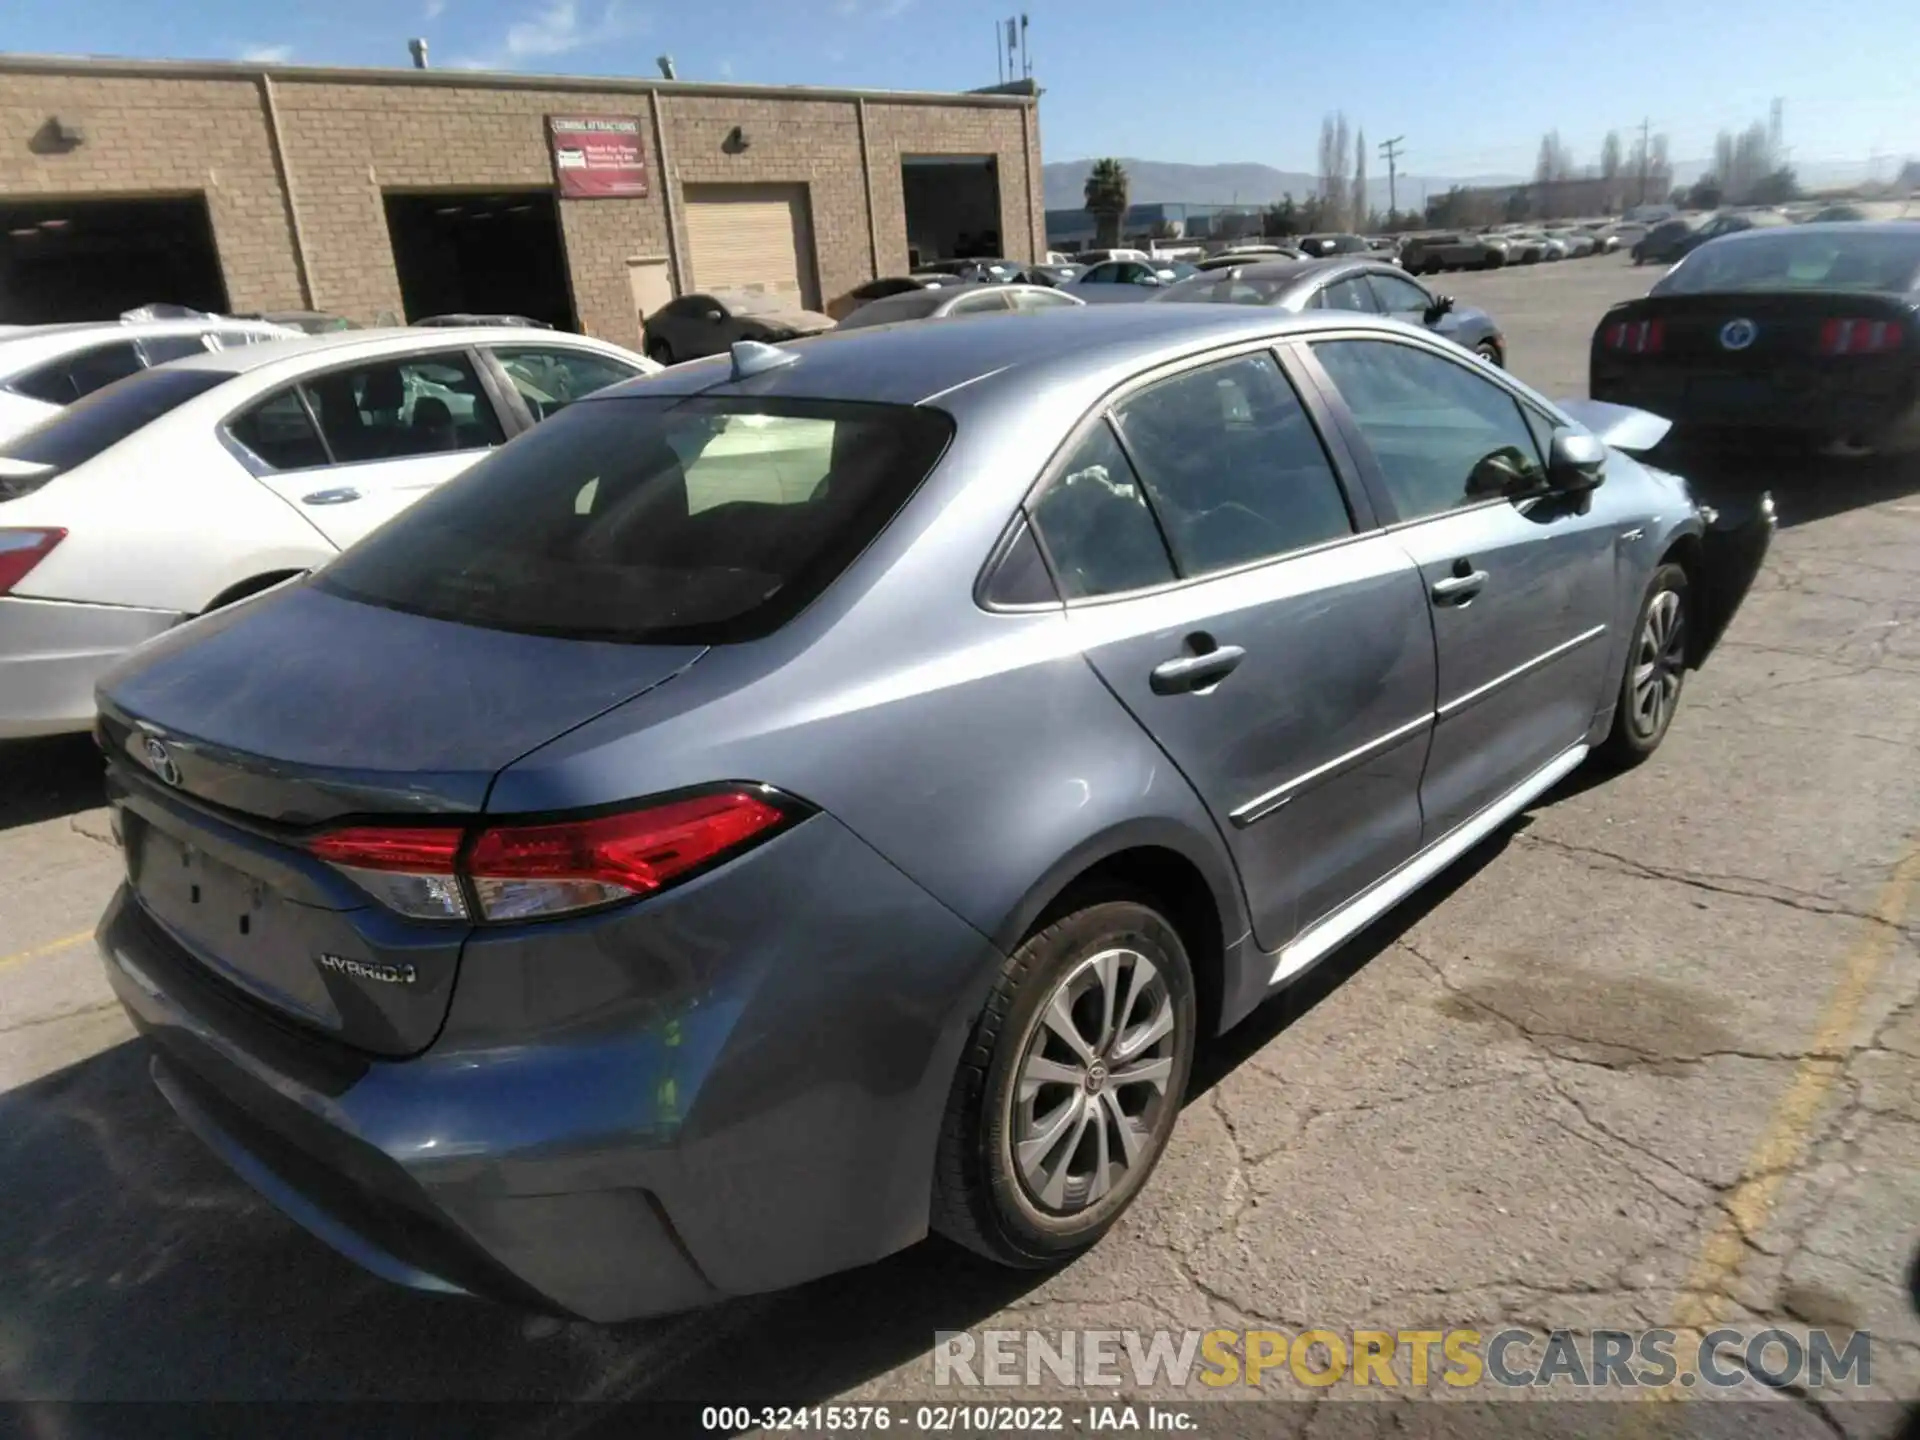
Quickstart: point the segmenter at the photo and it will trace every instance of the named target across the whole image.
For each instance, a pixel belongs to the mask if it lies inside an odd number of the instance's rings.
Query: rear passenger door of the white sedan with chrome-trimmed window
[[[505,440],[465,349],[326,371],[255,401],[227,428],[253,474],[340,547]]]

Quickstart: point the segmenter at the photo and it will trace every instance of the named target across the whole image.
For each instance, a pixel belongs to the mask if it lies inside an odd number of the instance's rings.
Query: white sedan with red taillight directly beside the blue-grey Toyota
[[[0,442],[0,737],[86,730],[125,651],[655,371],[551,330],[351,330],[142,371]]]

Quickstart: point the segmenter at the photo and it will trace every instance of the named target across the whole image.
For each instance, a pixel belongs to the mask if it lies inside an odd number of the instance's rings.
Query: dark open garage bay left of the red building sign
[[[578,328],[549,192],[390,194],[386,228],[407,321],[526,315]]]

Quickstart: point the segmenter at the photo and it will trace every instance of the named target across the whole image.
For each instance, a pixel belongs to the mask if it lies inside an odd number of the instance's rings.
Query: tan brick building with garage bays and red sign
[[[561,194],[551,117],[636,121],[645,194]],[[1031,86],[0,56],[0,323],[472,309],[632,346],[695,288],[818,309],[933,255],[1037,259],[1039,144]]]

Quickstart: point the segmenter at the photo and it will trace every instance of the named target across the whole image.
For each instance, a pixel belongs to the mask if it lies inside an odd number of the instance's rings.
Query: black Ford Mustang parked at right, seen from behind
[[[1590,394],[1680,434],[1920,445],[1920,225],[1711,240],[1601,317]]]

